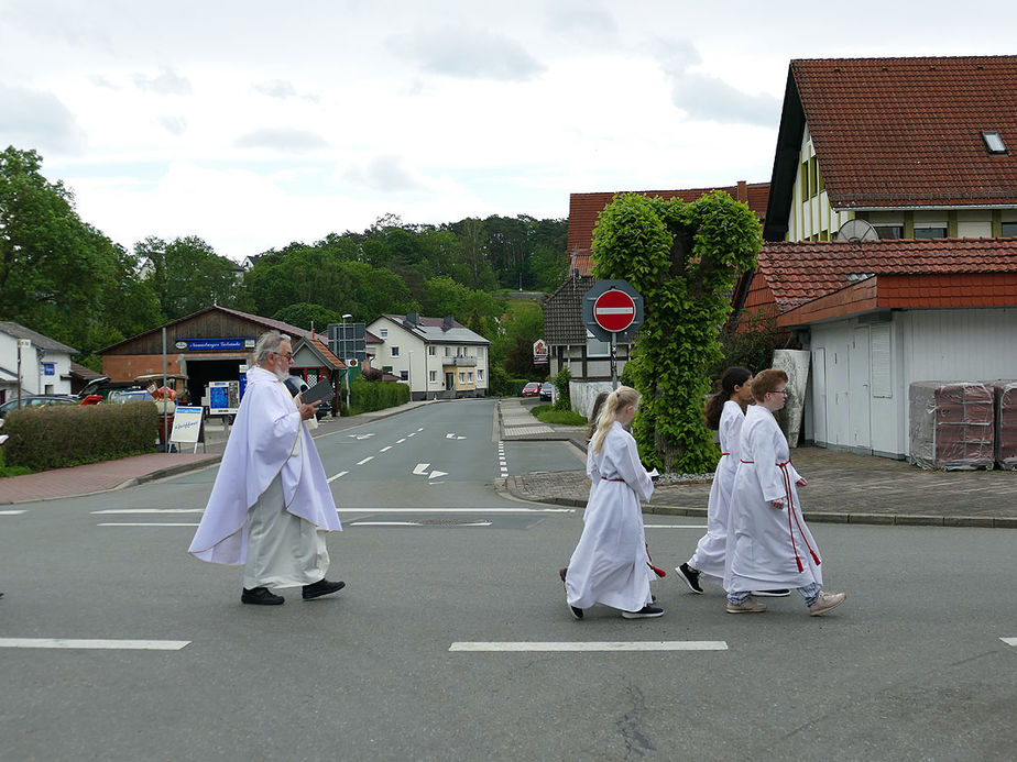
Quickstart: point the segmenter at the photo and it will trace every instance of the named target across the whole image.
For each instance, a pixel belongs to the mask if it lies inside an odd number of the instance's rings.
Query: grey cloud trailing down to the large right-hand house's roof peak
[[[753,96],[718,77],[690,70],[702,63],[696,46],[687,40],[658,43],[660,68],[671,86],[671,101],[691,119],[773,126],[780,119],[780,101],[766,95]]]

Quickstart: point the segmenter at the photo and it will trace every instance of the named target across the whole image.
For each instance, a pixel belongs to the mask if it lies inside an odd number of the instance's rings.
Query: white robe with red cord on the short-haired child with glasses
[[[819,548],[801,517],[799,478],[774,415],[751,406],[731,490],[728,593],[822,585]],[[784,500],[779,509],[770,503],[778,498]]]

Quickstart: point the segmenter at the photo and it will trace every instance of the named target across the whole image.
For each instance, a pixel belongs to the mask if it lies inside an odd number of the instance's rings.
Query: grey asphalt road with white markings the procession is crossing
[[[318,448],[347,472],[329,576],[348,588],[316,601],[242,606],[239,568],[186,554],[214,470],[0,515],[0,638],[186,642],[0,647],[0,759],[1014,759],[1011,531],[814,526],[827,587],[850,596],[825,618],[797,596],[726,615],[670,574],[663,618],[577,622],[557,568],[581,512],[497,493],[491,402]],[[577,467],[559,442],[503,452],[510,473],[534,453]],[[700,523],[647,516],[658,565]],[[723,650],[451,650],[661,641]]]

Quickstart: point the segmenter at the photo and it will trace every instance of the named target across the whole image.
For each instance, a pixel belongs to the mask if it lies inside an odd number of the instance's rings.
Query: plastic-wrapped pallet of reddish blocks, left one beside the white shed
[[[992,387],[978,382],[914,382],[908,460],[922,468],[992,468],[993,396]]]

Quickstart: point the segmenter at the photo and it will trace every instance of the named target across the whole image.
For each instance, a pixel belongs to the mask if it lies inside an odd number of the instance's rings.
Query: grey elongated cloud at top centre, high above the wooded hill
[[[424,71],[448,77],[527,81],[545,70],[522,45],[486,30],[446,27],[414,37],[391,37],[389,47]]]

